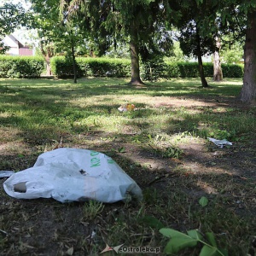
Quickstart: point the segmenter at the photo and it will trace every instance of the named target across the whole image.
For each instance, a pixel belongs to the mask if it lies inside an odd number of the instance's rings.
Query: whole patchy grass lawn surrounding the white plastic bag
[[[241,80],[209,89],[199,79],[127,82],[0,79],[0,170],[31,167],[62,143],[108,154],[143,189],[142,202],[61,204],[11,198],[1,179],[0,255],[98,255],[106,243],[164,248],[170,239],[155,218],[184,233],[212,232],[229,255],[254,255],[256,108],[236,102]],[[135,111],[120,113],[127,103]],[[200,251],[199,243],[177,255]]]

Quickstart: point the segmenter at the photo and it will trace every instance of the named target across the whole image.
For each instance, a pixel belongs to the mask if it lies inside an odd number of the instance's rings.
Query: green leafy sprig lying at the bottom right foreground
[[[171,238],[167,243],[164,252],[167,254],[178,253],[180,250],[188,247],[195,247],[198,242],[203,244],[200,256],[225,256],[228,253],[224,250],[218,249],[217,242],[213,233],[208,232],[206,239],[203,238],[199,230],[189,230],[187,234],[172,229],[160,229],[160,233]]]

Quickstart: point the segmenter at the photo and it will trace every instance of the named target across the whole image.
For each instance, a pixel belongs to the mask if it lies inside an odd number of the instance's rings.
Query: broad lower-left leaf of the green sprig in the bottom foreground
[[[183,236],[174,236],[171,238],[164,249],[165,253],[177,253],[183,248],[196,246],[197,240],[191,238],[190,236],[184,235],[183,233],[181,234]]]

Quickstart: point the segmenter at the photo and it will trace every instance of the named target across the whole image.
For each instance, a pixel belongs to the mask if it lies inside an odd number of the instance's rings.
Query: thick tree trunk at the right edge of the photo
[[[244,76],[241,102],[256,102],[256,11],[247,14],[247,32],[244,50]]]

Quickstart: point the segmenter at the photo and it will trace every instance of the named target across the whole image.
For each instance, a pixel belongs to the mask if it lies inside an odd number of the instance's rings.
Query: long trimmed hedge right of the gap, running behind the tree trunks
[[[109,58],[83,58],[76,59],[77,73],[79,77],[130,77],[131,61],[127,59]],[[51,59],[52,72],[58,78],[73,76],[73,62],[64,56],[57,56]],[[224,77],[242,78],[243,65],[222,64]],[[213,64],[204,63],[206,77],[213,76]],[[191,78],[199,77],[197,62],[163,62],[146,63],[141,65],[141,76],[143,79],[159,78]]]

